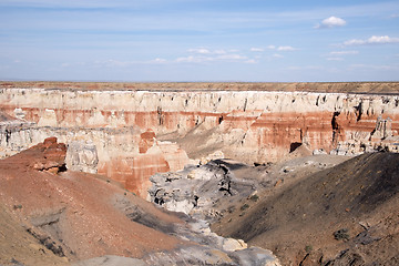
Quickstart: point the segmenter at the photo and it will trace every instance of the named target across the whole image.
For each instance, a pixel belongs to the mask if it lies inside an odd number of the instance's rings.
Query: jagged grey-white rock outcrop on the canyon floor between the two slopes
[[[233,170],[248,166],[228,161],[211,161],[205,165],[187,165],[183,171],[151,176],[151,202],[168,211],[215,221],[222,215],[217,206],[233,205],[263,187],[258,180],[236,176]]]

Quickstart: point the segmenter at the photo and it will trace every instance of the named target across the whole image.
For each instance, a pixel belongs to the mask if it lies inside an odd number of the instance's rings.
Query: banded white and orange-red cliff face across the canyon
[[[389,94],[0,89],[0,111],[20,119],[2,122],[0,145],[12,153],[55,135],[71,153],[85,153],[69,156],[68,166],[144,196],[152,174],[182,168],[187,154],[221,150],[262,163],[301,144],[336,154],[396,152],[398,105]]]

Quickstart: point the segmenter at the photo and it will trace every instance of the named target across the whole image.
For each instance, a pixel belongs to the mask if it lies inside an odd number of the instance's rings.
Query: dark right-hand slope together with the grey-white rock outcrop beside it
[[[152,201],[273,250],[282,265],[398,265],[399,154],[216,160],[152,177]]]

